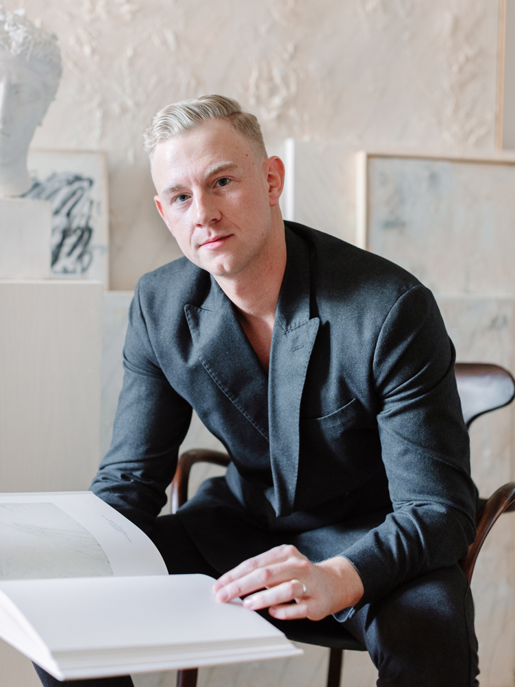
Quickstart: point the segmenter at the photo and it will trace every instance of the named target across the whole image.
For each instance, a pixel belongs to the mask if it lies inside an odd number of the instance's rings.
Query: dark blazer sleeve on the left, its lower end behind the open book
[[[166,502],[192,407],[173,389],[152,350],[138,284],[124,346],[124,385],[111,448],[91,491],[145,532]]]

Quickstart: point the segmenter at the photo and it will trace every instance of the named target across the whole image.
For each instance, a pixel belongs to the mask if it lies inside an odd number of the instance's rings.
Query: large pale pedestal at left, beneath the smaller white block
[[[102,284],[0,280],[0,490],[87,489],[100,460]]]

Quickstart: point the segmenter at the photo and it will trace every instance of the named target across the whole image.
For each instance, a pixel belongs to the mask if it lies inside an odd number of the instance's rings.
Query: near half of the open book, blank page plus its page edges
[[[0,637],[58,679],[302,653],[201,574],[0,581]],[[3,612],[5,611],[5,612]]]

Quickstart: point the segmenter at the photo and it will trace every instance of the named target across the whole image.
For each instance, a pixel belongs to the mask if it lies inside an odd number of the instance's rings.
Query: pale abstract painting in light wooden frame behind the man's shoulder
[[[437,295],[515,295],[515,159],[358,153],[356,243]]]

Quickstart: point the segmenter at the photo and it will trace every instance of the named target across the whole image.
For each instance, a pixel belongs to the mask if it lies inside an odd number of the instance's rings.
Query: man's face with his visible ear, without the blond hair
[[[277,224],[272,208],[282,170],[278,158],[258,157],[230,124],[208,120],[158,144],[155,202],[183,254],[214,276],[228,277],[266,251]]]

